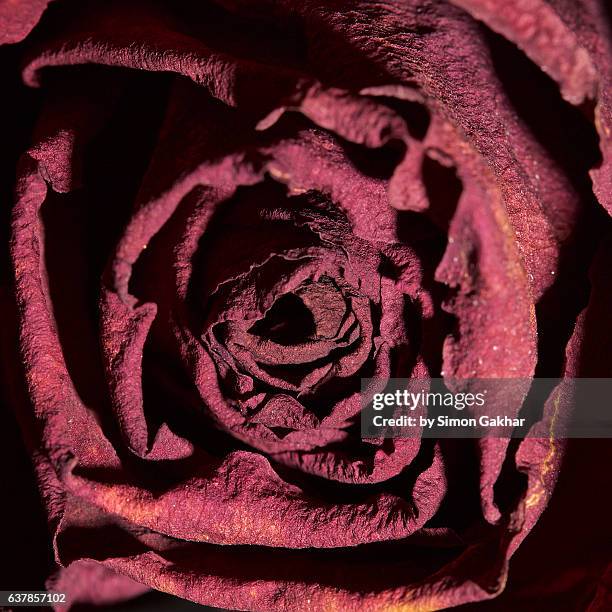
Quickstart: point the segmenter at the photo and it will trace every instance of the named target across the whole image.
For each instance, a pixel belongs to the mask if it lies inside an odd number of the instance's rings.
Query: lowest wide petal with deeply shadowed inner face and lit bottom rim
[[[514,529],[513,524],[507,527]],[[373,545],[325,554],[288,552],[176,543],[93,506],[69,505],[59,538],[68,571],[86,554],[138,582],[202,604],[267,610],[279,601],[301,607],[310,600],[315,609],[360,610],[364,601],[358,593],[363,590],[374,607],[444,608],[493,596],[503,585],[505,571],[505,546],[495,542],[496,536],[491,533],[466,546],[451,533],[432,529],[425,530],[414,547],[404,540],[387,550]],[[441,558],[424,557],[420,545],[440,547]],[[381,571],[372,572],[372,563]],[[312,572],[313,564],[318,575],[329,580],[322,583]]]

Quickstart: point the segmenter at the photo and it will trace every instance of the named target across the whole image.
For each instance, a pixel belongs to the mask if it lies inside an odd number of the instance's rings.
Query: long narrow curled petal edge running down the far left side
[[[102,104],[107,101],[103,96],[97,100]],[[48,121],[41,122],[41,144],[24,155],[19,167],[11,249],[12,256],[20,262],[15,269],[16,298],[23,317],[20,343],[28,355],[25,377],[34,416],[42,428],[42,449],[51,462],[76,452],[83,465],[117,467],[115,449],[70,380],[48,285],[40,275],[44,269],[44,242],[39,212],[50,190],[45,178],[55,189],[70,187],[75,176],[69,160],[80,154],[71,135],[78,132],[83,138],[90,136],[99,125],[96,118],[105,117],[107,112],[96,103],[77,106],[68,114],[67,123],[60,123],[61,127],[54,113]]]

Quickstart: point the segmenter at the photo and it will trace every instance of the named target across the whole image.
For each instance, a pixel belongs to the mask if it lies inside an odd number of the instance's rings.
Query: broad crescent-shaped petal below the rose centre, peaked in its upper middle
[[[439,455],[417,477],[411,503],[387,493],[362,503],[324,503],[282,481],[261,455],[234,452],[223,461],[204,459],[201,474],[156,494],[136,483],[78,475],[74,462],[65,465],[62,480],[77,497],[174,538],[285,548],[336,548],[406,537],[433,516],[444,494]],[[289,522],[288,516],[293,517]]]

